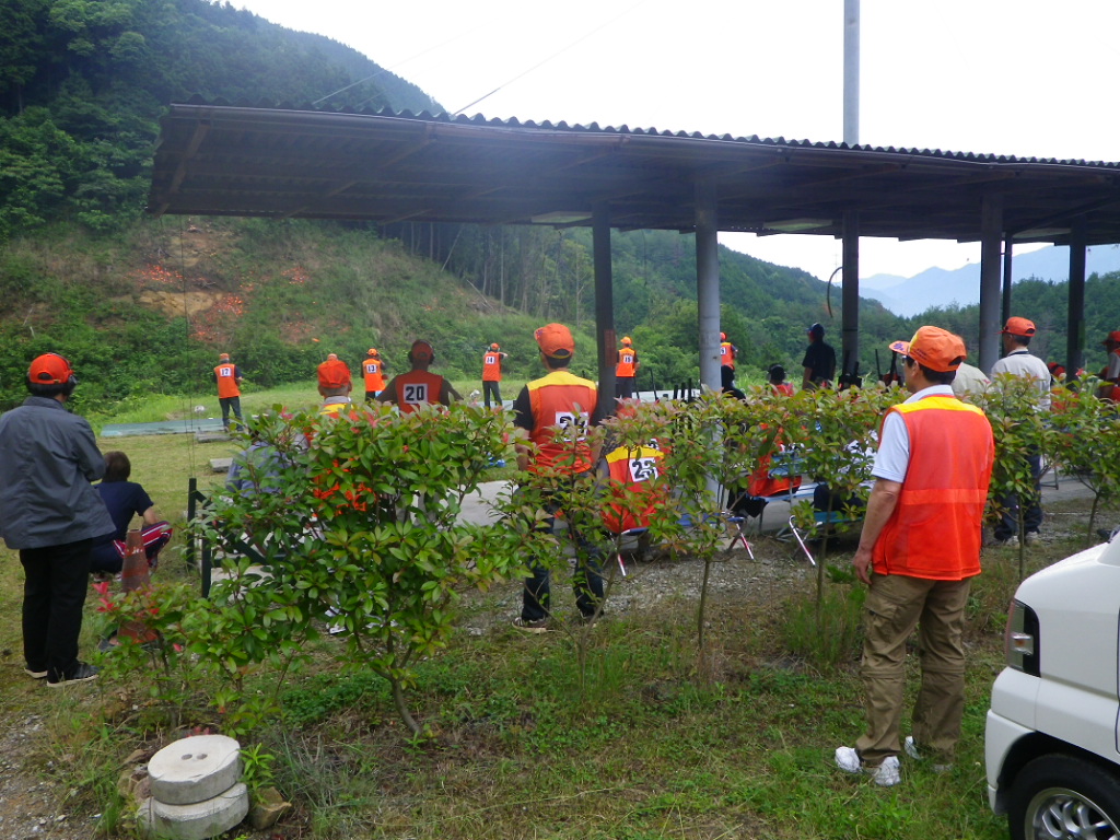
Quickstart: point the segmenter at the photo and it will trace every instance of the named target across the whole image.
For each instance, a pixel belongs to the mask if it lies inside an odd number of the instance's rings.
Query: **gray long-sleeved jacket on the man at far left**
[[[0,417],[0,536],[40,549],[113,531],[90,482],[105,473],[93,429],[58,400],[28,396]]]

